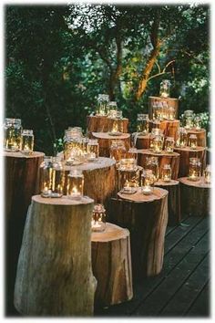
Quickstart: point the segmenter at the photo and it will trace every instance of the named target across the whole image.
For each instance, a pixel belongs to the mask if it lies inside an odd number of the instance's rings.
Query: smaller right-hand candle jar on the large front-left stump
[[[84,175],[81,170],[72,170],[67,176],[67,197],[81,200],[84,194]]]

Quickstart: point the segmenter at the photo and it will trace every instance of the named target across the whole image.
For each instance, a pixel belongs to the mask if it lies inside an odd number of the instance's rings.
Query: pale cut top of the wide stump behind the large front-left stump
[[[107,157],[98,157],[97,162],[84,162],[81,165],[76,166],[65,166],[66,171],[71,170],[81,170],[81,171],[94,171],[94,170],[100,170],[103,168],[111,167],[116,164],[116,161],[114,161],[112,158]]]

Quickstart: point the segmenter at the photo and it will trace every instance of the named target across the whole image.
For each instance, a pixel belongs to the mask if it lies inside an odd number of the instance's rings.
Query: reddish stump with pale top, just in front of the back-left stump
[[[99,156],[109,157],[109,148],[112,141],[124,141],[127,151],[130,148],[130,134],[122,133],[119,136],[110,136],[106,132],[92,132],[92,137],[98,140]]]

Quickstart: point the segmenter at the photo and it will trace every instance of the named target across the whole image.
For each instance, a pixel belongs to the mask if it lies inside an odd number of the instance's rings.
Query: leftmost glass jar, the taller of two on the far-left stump
[[[4,124],[5,151],[19,151],[21,148],[21,119],[6,118]]]

